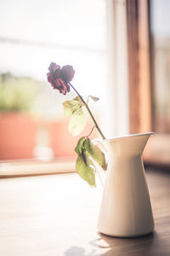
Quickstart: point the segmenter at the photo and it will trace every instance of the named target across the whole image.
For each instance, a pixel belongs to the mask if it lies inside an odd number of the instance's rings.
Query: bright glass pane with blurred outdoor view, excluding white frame
[[[0,158],[72,157],[77,138],[67,131],[59,95],[47,83],[51,61],[76,70],[82,96],[98,96],[98,119],[106,101],[104,0],[0,3]],[[93,108],[93,106],[92,106]],[[91,125],[87,126],[89,133]]]

